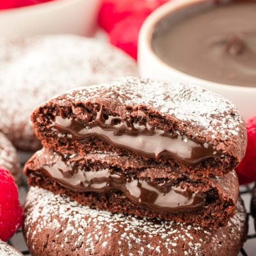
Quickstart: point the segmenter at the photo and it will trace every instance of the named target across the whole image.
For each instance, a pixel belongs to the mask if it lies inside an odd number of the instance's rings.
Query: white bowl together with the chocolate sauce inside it
[[[179,0],[140,31],[140,75],[199,84],[256,114],[256,1]]]

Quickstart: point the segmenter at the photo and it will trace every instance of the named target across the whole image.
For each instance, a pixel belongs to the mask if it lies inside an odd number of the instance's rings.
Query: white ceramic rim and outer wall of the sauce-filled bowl
[[[213,0],[214,1],[214,0]],[[212,1],[212,2],[213,2]],[[164,4],[145,20],[139,36],[138,65],[140,76],[168,79],[176,82],[198,84],[212,92],[220,93],[236,104],[244,119],[256,114],[256,87],[234,86],[214,83],[184,74],[161,61],[152,50],[152,35],[157,22],[169,13],[193,3],[208,3],[205,0],[179,0]],[[256,65],[256,64],[255,64]]]

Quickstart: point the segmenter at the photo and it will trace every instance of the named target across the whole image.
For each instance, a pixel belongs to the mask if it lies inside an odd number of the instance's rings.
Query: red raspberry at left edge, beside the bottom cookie
[[[21,227],[22,213],[17,185],[10,172],[0,166],[0,239],[7,241]]]

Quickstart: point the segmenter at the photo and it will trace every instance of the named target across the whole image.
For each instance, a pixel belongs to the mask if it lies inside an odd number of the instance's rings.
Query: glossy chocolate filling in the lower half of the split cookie
[[[42,172],[61,186],[80,193],[122,191],[133,204],[156,212],[198,211],[205,204],[205,195],[199,191],[193,193],[188,188],[173,187],[168,183],[159,185],[145,180],[127,180],[122,175],[111,174],[108,169],[81,170],[61,158],[52,166],[44,165]]]

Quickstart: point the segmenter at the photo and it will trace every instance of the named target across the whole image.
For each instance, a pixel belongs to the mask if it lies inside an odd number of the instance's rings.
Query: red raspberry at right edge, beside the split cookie
[[[256,116],[246,122],[247,148],[246,154],[236,168],[240,184],[256,181]]]

